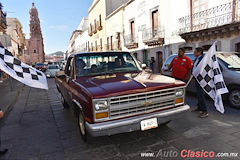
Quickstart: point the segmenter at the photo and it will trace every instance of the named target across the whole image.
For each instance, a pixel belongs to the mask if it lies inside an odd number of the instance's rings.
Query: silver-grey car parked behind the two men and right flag
[[[204,53],[205,54],[205,53]],[[195,56],[193,52],[185,53],[186,56],[191,58],[193,61]],[[222,71],[222,75],[225,81],[225,84],[229,90],[228,94],[223,96],[229,102],[229,105],[233,108],[240,109],[240,53],[238,52],[217,52],[219,66]],[[169,64],[171,63],[172,59],[177,56],[176,54],[171,55],[167,58],[162,66],[162,74],[171,76],[171,71],[164,72]],[[195,79],[192,79],[189,83],[187,90],[194,91]]]

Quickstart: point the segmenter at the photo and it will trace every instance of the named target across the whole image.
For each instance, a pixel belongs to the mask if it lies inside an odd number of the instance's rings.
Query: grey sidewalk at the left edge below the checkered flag
[[[4,118],[7,117],[6,115],[12,109],[22,87],[22,83],[11,77],[4,79],[3,83],[0,83],[0,108],[5,113]],[[2,120],[0,120],[0,123]]]

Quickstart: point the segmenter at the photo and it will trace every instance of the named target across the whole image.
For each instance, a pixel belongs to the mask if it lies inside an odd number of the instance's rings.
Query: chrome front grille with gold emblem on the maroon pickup
[[[175,89],[112,97],[110,119],[133,116],[174,107]]]

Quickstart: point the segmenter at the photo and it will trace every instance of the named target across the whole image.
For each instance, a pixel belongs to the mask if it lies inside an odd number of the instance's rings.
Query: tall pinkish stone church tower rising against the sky
[[[45,61],[44,45],[42,31],[40,27],[40,20],[38,18],[38,10],[32,3],[30,9],[30,39],[26,40],[27,54],[29,61],[27,63],[42,63]]]

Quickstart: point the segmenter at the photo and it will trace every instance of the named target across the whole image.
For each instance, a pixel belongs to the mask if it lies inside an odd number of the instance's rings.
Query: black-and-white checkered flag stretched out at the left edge
[[[30,87],[48,89],[46,76],[41,71],[21,62],[2,47],[0,47],[0,69]]]

